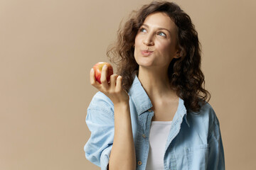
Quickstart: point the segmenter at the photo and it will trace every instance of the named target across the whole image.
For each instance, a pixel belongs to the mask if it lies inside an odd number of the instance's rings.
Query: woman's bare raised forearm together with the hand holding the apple
[[[102,84],[96,81],[95,70],[92,68],[90,83],[114,103],[114,140],[110,154],[109,169],[124,169],[124,167],[126,169],[136,169],[129,95],[122,89],[122,77],[112,74],[110,82],[107,82],[107,65],[105,65],[102,68],[100,81]]]

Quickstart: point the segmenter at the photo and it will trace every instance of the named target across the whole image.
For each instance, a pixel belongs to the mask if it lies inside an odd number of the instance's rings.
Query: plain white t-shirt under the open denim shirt
[[[149,132],[149,156],[146,170],[164,169],[164,149],[171,129],[171,121],[152,121]]]

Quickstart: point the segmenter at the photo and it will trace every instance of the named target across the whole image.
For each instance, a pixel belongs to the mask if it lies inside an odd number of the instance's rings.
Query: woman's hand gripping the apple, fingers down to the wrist
[[[124,89],[122,89],[122,77],[117,74],[110,76],[110,82],[107,82],[107,65],[102,68],[102,74],[100,77],[100,84],[95,79],[95,69],[91,69],[90,72],[90,84],[95,86],[96,89],[108,96],[110,100],[115,104],[128,103],[129,95]]]

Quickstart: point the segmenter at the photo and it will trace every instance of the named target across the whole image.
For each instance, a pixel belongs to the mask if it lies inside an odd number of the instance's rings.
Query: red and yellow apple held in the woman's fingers
[[[107,65],[107,82],[110,82],[110,76],[113,74],[113,67],[110,63],[108,63],[108,62],[97,62],[93,66],[93,69],[95,69],[95,78],[100,84],[101,84],[100,77],[101,77],[101,73],[102,73],[102,67],[105,64]]]

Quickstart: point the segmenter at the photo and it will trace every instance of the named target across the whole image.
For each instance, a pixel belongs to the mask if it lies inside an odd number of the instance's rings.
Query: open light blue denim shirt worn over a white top
[[[137,170],[146,169],[149,130],[154,115],[151,107],[149,96],[135,76],[129,90],[129,108]],[[114,140],[114,105],[102,92],[97,92],[92,98],[87,108],[86,123],[91,135],[84,147],[85,157],[105,170]],[[164,170],[225,169],[220,125],[209,103],[202,105],[199,113],[193,113],[186,110],[184,101],[179,98],[163,162]]]

